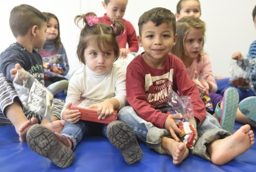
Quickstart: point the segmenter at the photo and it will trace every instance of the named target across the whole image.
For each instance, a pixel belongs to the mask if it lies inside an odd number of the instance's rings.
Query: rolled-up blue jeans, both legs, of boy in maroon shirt
[[[166,112],[166,108],[163,108],[161,111]],[[130,125],[137,138],[145,142],[148,148],[154,149],[160,154],[166,154],[166,151],[161,146],[161,138],[163,136],[172,138],[166,129],[154,127],[152,123],[143,120],[131,106],[123,107],[118,112],[118,119]],[[223,139],[231,135],[222,129],[218,121],[208,112],[203,123],[197,127],[197,132],[198,140],[194,145],[192,153],[208,161],[210,161],[210,156],[205,145],[216,139]]]

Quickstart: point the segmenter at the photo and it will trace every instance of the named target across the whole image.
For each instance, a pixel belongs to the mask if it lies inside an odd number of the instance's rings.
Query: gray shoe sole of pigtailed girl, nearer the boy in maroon
[[[125,158],[126,163],[133,164],[141,160],[143,152],[133,129],[122,121],[113,121],[107,128],[108,139]]]

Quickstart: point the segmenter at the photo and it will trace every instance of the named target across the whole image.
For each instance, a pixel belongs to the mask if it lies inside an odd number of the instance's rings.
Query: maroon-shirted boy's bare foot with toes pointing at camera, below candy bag
[[[188,148],[183,142],[177,142],[174,139],[163,136],[161,146],[167,154],[172,156],[172,163],[179,164],[188,156]]]

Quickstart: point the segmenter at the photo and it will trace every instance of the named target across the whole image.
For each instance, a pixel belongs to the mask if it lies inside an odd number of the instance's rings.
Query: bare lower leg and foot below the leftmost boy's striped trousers
[[[24,115],[22,107],[15,100],[13,104],[5,108],[5,114],[7,118],[11,121],[11,123],[13,123],[16,133],[19,135],[19,141],[26,141],[28,129],[33,124],[37,124],[38,120],[36,118],[28,120],[27,117]]]

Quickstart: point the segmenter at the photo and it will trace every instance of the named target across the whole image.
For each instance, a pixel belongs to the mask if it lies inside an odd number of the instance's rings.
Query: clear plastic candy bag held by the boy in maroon
[[[176,119],[177,127],[183,131],[184,135],[178,135],[180,139],[193,149],[196,136],[196,121],[193,114],[193,106],[190,96],[177,95],[171,88],[167,96],[167,114],[180,114],[181,118]]]

